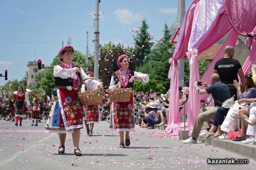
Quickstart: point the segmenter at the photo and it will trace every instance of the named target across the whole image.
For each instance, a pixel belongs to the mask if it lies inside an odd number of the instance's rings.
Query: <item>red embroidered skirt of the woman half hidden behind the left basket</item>
[[[99,106],[84,106],[86,121],[89,123],[99,123]]]

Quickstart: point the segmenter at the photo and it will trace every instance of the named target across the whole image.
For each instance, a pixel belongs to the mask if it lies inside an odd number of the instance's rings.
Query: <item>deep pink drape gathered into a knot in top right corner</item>
[[[224,7],[233,29],[247,36],[245,46],[250,49],[253,38],[256,39],[256,1],[226,0]]]

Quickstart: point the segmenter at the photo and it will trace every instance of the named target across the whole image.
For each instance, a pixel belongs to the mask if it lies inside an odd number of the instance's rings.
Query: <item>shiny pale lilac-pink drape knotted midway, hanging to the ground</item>
[[[187,129],[192,130],[195,119],[200,113],[200,98],[193,84],[199,81],[198,56],[197,49],[199,45],[206,39],[211,27],[214,26],[219,14],[224,6],[224,0],[203,0],[200,1],[198,16],[192,29],[187,57],[189,58],[190,80],[189,80],[189,107]]]

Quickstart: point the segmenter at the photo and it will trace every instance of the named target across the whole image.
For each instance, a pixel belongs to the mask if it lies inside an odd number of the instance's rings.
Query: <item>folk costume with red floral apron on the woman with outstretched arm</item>
[[[121,88],[133,87],[133,81],[129,82],[131,76],[142,77],[142,84],[146,84],[149,81],[149,76],[140,72],[130,71],[129,69],[119,69],[112,74],[111,83],[109,89],[115,89],[115,85],[120,81]],[[113,130],[117,131],[129,131],[131,129],[132,118],[134,116],[134,101],[133,95],[131,95],[130,101],[127,102],[114,102],[111,104],[112,111],[112,126]]]

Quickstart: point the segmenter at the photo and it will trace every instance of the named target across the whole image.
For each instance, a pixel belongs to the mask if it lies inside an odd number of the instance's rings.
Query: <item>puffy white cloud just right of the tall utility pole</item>
[[[120,23],[132,23],[140,18],[139,14],[133,14],[128,9],[116,9],[113,14],[115,15],[115,19],[119,20]]]

